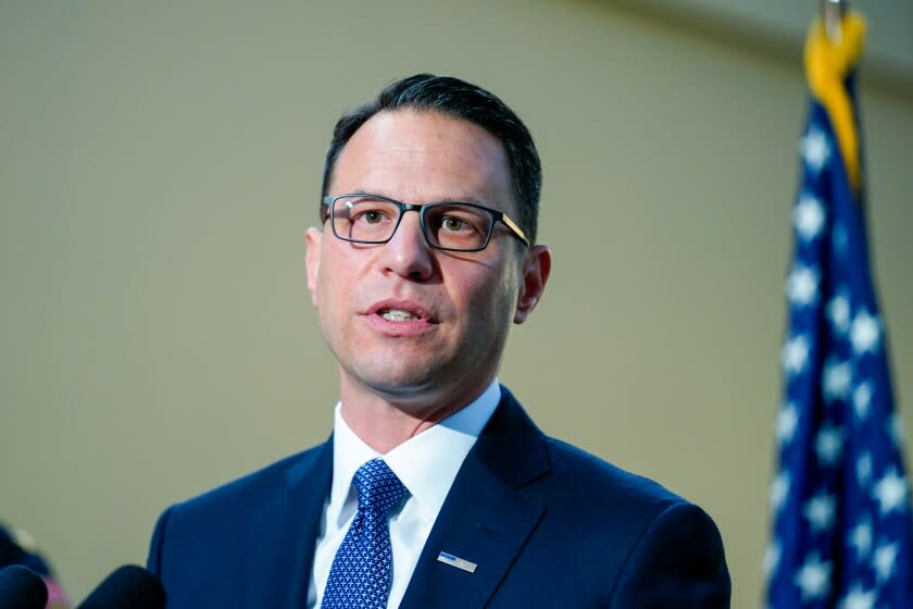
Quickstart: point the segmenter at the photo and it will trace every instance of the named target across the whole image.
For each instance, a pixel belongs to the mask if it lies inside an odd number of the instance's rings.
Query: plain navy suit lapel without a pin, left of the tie
[[[308,598],[314,544],[333,478],[333,438],[285,472],[286,485],[251,514],[245,607],[298,609]]]

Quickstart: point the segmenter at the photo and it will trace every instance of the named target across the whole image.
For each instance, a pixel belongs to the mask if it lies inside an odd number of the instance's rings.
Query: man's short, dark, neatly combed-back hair
[[[500,140],[508,156],[511,185],[520,208],[517,223],[536,241],[542,167],[533,136],[513,110],[491,92],[452,76],[416,74],[390,83],[374,101],[347,112],[336,123],[324,164],[322,196],[329,192],[342,148],[368,119],[383,111],[437,111],[484,128]]]

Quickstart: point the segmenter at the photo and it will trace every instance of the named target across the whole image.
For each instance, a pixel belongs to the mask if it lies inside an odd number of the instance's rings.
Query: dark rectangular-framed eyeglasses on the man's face
[[[321,220],[329,217],[333,234],[343,241],[386,244],[393,238],[402,214],[417,211],[429,246],[448,251],[481,251],[502,222],[527,247],[529,239],[508,214],[475,203],[403,203],[380,195],[329,195],[321,206]]]

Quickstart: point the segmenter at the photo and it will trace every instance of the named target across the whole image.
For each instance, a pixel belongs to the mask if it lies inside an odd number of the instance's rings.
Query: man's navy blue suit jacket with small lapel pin
[[[167,509],[148,568],[168,609],[304,606],[333,443]],[[437,560],[475,562],[474,573]],[[547,437],[502,387],[400,607],[728,607],[716,526],[660,485]]]

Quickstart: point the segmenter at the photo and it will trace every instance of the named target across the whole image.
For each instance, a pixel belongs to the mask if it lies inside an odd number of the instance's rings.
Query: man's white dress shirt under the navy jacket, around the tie
[[[501,387],[496,378],[474,402],[383,456],[410,493],[402,509],[390,518],[393,568],[388,609],[399,607],[402,601],[418,555],[453,478],[500,399]],[[321,606],[336,550],[355,518],[359,499],[352,477],[365,462],[382,457],[342,420],[340,406],[336,405],[334,419],[333,486],[324,504],[321,533],[314,550],[314,567],[308,589],[309,608]]]

